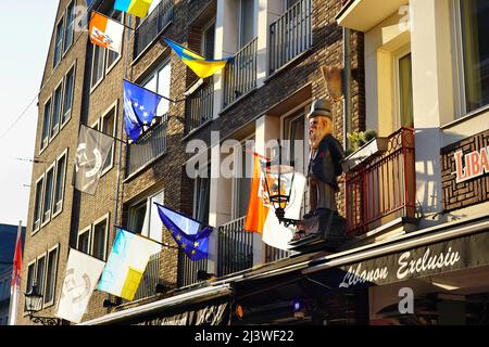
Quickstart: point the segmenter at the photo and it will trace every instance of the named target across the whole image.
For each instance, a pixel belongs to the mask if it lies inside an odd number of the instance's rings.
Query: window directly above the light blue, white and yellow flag
[[[129,230],[161,242],[161,220],[154,203],[163,204],[163,192],[159,192],[129,206]]]

